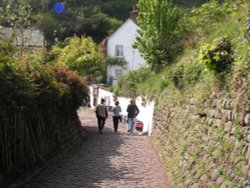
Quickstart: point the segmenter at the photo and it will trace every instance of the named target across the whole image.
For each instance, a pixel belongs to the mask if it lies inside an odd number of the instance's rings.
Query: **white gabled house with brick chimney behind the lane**
[[[107,68],[107,78],[111,85],[122,74],[146,65],[139,51],[133,48],[139,27],[132,14],[107,40],[107,55],[127,62],[125,66],[112,65]]]

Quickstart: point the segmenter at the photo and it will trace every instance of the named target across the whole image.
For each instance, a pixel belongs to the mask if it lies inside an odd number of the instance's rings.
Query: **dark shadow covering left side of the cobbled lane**
[[[88,124],[84,126],[89,134],[88,139],[77,151],[51,161],[26,188],[100,187],[102,182],[119,181],[122,178],[127,170],[116,169],[111,161],[115,156],[121,155],[118,148],[123,139],[113,133],[110,127],[105,127],[104,133],[100,134],[96,119],[91,113],[93,112],[87,112],[88,117],[80,117],[83,124]]]

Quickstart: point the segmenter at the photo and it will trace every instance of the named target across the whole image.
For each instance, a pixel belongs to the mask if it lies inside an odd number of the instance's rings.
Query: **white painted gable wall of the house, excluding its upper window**
[[[139,54],[137,49],[132,46],[136,40],[137,30],[139,27],[131,20],[128,19],[116,32],[111,35],[107,42],[107,54],[108,56],[115,57],[115,46],[122,45],[124,49],[124,60],[128,62],[125,67],[120,67],[123,73],[131,70],[136,70],[142,66],[146,66],[146,61]],[[107,76],[112,75],[115,78],[115,69],[117,66],[110,66],[107,70]]]

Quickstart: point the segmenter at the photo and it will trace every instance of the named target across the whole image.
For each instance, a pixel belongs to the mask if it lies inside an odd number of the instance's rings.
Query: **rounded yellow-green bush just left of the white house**
[[[105,56],[90,37],[71,37],[65,43],[53,46],[51,56],[56,64],[77,71],[81,76],[91,76],[100,81],[105,76]]]

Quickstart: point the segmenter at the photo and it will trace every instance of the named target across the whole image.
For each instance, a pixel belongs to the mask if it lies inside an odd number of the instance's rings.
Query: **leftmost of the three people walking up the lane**
[[[102,130],[105,126],[105,121],[108,118],[108,110],[105,103],[105,99],[101,99],[101,104],[96,107],[96,118],[98,121],[98,130],[99,133],[102,133]]]

